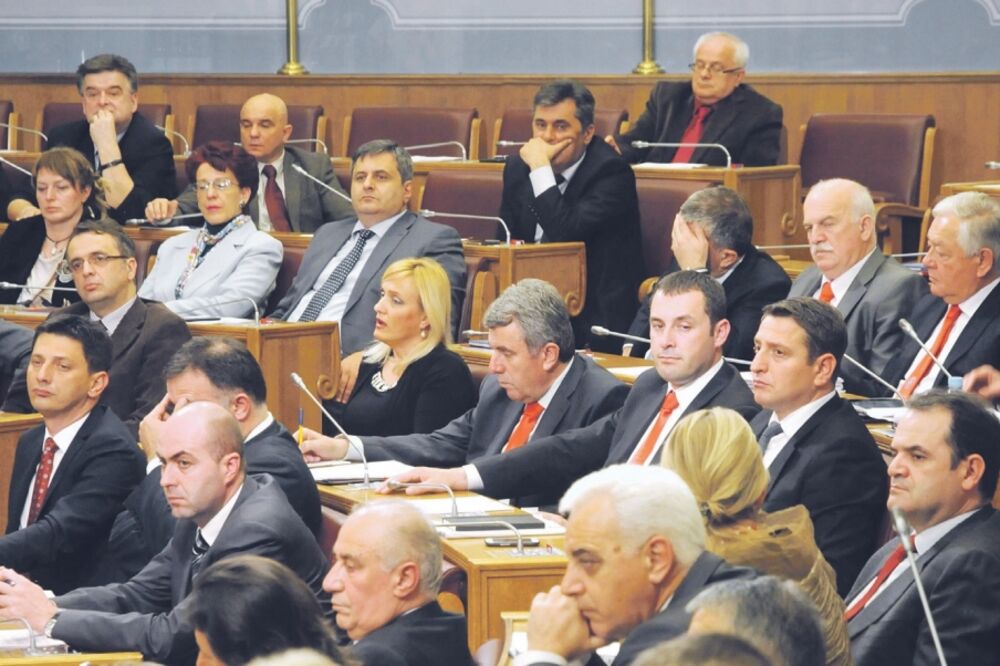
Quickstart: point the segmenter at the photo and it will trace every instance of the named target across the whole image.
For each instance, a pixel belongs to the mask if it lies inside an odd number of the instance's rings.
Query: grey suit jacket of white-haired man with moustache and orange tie
[[[822,282],[823,274],[816,266],[810,266],[795,280],[788,295],[812,296]],[[837,304],[847,324],[847,354],[881,375],[904,341],[899,318],[909,317],[913,305],[925,294],[927,281],[923,277],[892,257],[874,253]],[[839,373],[849,393],[867,396],[888,393],[850,361],[840,364]]]

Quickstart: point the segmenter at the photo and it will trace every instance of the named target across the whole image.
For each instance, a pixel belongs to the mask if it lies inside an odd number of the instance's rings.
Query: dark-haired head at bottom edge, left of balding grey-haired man
[[[205,569],[194,581],[190,617],[198,666],[240,666],[292,648],[347,663],[309,587],[266,557],[237,555]]]

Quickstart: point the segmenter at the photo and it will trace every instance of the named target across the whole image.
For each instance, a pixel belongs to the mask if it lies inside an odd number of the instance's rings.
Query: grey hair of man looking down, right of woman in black
[[[528,278],[507,287],[483,315],[488,329],[517,320],[528,351],[535,354],[549,342],[559,347],[559,360],[573,357],[573,327],[569,310],[556,288],[545,280]]]

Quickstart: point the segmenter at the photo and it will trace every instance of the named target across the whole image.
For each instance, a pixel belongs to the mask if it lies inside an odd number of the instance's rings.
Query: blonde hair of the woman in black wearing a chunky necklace
[[[417,290],[420,308],[427,318],[427,337],[422,337],[413,353],[399,359],[400,372],[414,361],[423,358],[440,344],[451,342],[451,282],[441,264],[419,257],[400,259],[389,264],[382,274],[386,280],[411,280]],[[368,363],[383,363],[392,350],[384,342],[374,342],[365,350],[364,359]]]

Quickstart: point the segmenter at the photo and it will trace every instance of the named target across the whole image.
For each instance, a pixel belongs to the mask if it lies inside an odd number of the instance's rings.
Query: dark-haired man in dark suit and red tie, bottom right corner
[[[985,403],[936,390],[914,397],[896,426],[889,508],[912,529],[916,568],[941,640],[940,661],[913,570],[893,539],[847,595],[858,666],[988,664],[1000,632],[1000,515],[990,506],[1000,424]]]

